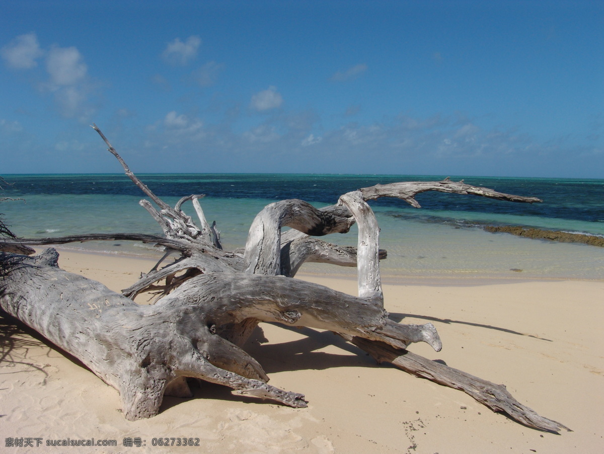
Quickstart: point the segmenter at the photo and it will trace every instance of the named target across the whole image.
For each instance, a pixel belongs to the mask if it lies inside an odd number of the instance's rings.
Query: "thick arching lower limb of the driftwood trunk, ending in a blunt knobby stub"
[[[219,334],[222,327],[230,329],[253,318],[348,333],[397,348],[406,348],[411,342],[426,342],[436,351],[442,347],[432,324],[396,324],[374,302],[283,276],[202,274],[154,307],[161,311],[182,301],[201,309],[207,324],[214,325]]]

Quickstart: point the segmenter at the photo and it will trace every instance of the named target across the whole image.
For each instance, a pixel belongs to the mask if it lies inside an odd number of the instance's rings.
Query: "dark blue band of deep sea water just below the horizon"
[[[374,176],[308,174],[141,174],[140,178],[159,197],[206,194],[224,199],[302,199],[335,203],[341,194],[375,184],[397,181],[438,181],[443,176]],[[461,179],[461,177],[453,178]],[[39,194],[97,194],[143,196],[124,175],[14,175],[4,196]],[[467,184],[521,196],[534,196],[543,203],[506,203],[477,196],[423,193],[418,202],[426,211],[513,214],[515,216],[604,223],[604,180],[466,177]],[[379,199],[373,206],[409,208],[397,199]],[[591,233],[599,234],[596,227]]]

